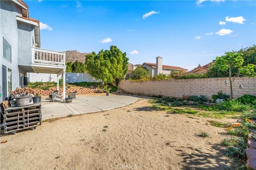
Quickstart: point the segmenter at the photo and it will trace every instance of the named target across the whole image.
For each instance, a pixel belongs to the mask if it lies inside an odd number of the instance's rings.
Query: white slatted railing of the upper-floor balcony
[[[58,64],[66,63],[66,53],[32,47],[32,63]]]

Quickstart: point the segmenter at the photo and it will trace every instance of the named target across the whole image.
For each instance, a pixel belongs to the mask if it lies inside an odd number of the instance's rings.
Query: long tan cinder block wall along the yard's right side
[[[228,84],[225,84],[225,80]],[[239,85],[243,88],[240,89]],[[122,80],[118,84],[118,92],[141,94],[146,96],[166,96],[181,98],[185,95],[205,95],[212,100],[212,95],[222,91],[224,94],[230,94],[230,84],[228,77],[222,78],[193,78],[178,80],[158,80],[132,82]],[[233,82],[233,97],[236,99],[244,94],[256,96],[256,77],[246,78],[237,77]]]

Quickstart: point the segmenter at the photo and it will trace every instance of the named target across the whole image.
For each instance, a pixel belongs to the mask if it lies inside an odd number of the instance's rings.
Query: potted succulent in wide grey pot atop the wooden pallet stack
[[[34,94],[34,90],[27,87],[17,87],[14,91],[10,90],[10,94],[14,95],[14,99],[16,100],[18,106],[27,106],[29,105],[32,94]]]

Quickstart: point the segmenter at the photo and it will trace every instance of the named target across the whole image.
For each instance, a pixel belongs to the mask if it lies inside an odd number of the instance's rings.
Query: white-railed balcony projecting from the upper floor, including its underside
[[[66,69],[66,53],[32,47],[31,66],[36,73],[62,74]]]

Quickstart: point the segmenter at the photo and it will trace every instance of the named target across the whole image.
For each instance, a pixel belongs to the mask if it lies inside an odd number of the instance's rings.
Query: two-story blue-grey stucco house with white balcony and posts
[[[39,21],[28,14],[22,0],[0,0],[0,101],[8,97],[10,90],[28,84],[30,72],[58,76],[66,72],[66,54],[40,48]]]

